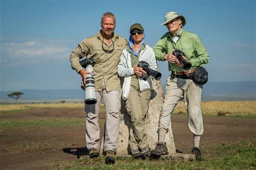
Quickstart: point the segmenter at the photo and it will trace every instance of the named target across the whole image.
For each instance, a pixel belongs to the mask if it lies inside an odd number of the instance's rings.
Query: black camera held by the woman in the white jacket
[[[142,73],[143,80],[146,80],[146,78],[150,75],[156,80],[159,80],[162,76],[160,72],[149,68],[149,63],[147,63],[146,61],[139,61],[137,66],[143,68],[143,70],[145,70],[145,72],[147,73],[147,75]]]

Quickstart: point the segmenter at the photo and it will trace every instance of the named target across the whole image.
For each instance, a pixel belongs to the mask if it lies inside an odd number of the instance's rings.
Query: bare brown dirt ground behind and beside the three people
[[[0,115],[1,120],[40,120],[59,118],[85,118],[78,109],[45,108],[11,112]],[[105,118],[100,113],[100,119]],[[101,127],[103,129],[103,126]],[[188,130],[186,115],[172,116],[172,131],[176,148],[183,153],[192,149],[192,134]],[[0,169],[45,169],[78,160],[87,154],[85,125],[57,128],[20,128],[0,131]],[[201,149],[207,157],[214,150],[204,148],[214,144],[256,140],[256,119],[204,117],[204,134]]]

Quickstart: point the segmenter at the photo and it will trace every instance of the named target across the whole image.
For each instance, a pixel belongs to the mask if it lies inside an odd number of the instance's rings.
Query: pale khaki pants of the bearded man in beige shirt
[[[102,92],[96,91],[97,103],[85,104],[86,111],[86,146],[97,148],[99,150],[99,108],[103,98],[106,108],[106,124],[105,124],[105,141],[104,151],[117,150],[118,134],[119,134],[119,113],[121,109],[120,90],[106,92],[105,83],[103,83]]]

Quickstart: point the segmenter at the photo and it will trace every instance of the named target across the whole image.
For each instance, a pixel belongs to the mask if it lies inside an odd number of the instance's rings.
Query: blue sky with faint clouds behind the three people
[[[106,11],[116,15],[115,32],[129,37],[141,23],[154,46],[167,29],[166,12],[185,16],[184,30],[198,34],[210,54],[209,81],[256,81],[255,1],[60,1],[0,0],[0,90],[78,89],[80,76],[69,55],[100,30]],[[161,81],[169,75],[158,61]]]

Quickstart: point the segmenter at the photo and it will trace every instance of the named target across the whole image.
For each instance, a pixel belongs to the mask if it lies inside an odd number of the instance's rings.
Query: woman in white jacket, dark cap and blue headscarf
[[[144,121],[152,89],[152,77],[143,70],[141,63],[157,70],[153,49],[145,44],[143,26],[135,23],[130,27],[129,47],[122,52],[118,65],[118,75],[124,77],[122,97],[126,101],[126,110],[131,116],[130,153],[134,158],[150,154]],[[143,62],[145,61],[145,62]]]

